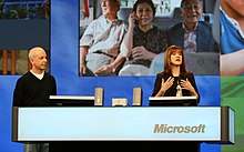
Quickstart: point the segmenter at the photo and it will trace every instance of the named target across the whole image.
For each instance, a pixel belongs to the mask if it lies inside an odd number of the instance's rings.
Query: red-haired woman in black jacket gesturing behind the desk
[[[196,97],[196,104],[199,104],[200,101],[194,74],[185,69],[182,48],[171,45],[164,55],[164,71],[156,74],[152,97],[176,95]]]

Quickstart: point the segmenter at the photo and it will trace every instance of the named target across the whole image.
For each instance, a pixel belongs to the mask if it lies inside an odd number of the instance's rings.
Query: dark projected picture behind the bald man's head
[[[0,74],[26,73],[34,45],[49,51],[49,0],[0,1]]]

